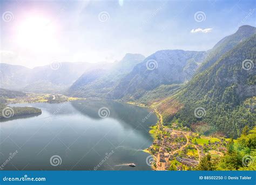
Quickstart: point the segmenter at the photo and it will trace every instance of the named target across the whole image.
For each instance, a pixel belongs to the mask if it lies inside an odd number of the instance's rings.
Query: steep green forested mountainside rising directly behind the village
[[[256,34],[197,74],[177,94],[163,100],[159,111],[164,121],[178,121],[205,134],[234,137],[246,125],[252,128],[256,122],[255,58]]]

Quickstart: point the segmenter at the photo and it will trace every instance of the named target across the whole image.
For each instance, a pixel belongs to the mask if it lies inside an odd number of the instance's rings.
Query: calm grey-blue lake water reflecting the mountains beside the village
[[[10,106],[37,107],[42,114],[0,122],[5,170],[151,170],[142,149],[153,142],[149,126],[157,117],[147,108],[105,100]]]

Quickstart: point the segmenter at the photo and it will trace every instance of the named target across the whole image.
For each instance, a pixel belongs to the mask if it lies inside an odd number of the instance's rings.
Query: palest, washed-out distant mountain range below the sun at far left
[[[35,68],[0,64],[1,87],[25,92],[51,93],[64,92],[85,71],[94,68],[107,68],[108,63],[56,63]]]

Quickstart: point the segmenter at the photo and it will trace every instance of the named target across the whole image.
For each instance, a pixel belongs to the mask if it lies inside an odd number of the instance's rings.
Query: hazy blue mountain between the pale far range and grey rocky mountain
[[[120,61],[116,61],[109,70],[91,70],[85,72],[69,88],[69,94],[78,97],[110,98],[109,93],[116,87],[120,79],[130,73],[134,66],[141,63],[142,54],[127,53]]]

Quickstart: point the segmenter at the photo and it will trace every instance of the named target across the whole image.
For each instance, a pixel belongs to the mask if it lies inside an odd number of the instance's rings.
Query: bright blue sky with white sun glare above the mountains
[[[0,62],[113,62],[166,49],[206,51],[241,25],[254,0],[0,1]]]

